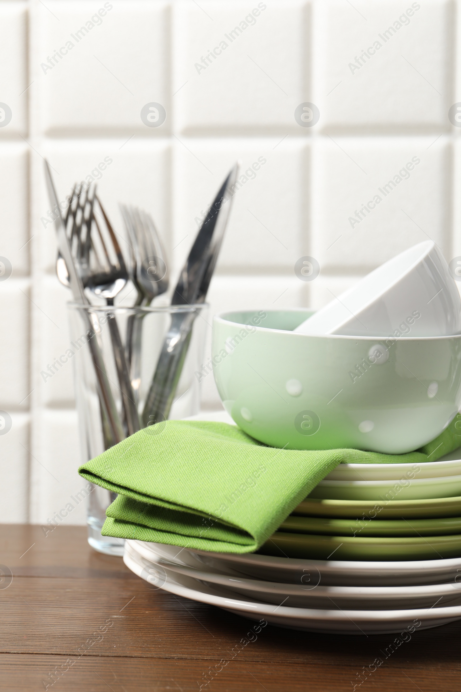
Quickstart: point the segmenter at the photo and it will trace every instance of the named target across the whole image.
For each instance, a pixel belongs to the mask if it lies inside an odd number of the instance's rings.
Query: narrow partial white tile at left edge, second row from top
[[[9,260],[14,277],[29,271],[28,179],[27,145],[1,143],[0,255]]]

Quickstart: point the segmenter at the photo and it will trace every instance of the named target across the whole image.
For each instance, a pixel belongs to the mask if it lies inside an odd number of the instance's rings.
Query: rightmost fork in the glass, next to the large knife
[[[131,247],[131,280],[138,296],[135,306],[148,307],[169,286],[169,270],[158,231],[151,215],[136,207],[120,205]],[[133,314],[126,325],[126,360],[131,368],[131,385],[138,401],[141,381],[142,319],[145,313]]]

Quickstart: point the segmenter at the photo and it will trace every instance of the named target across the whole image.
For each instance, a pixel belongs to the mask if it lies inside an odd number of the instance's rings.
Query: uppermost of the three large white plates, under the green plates
[[[143,554],[154,562],[160,556],[176,565],[207,572],[290,584],[303,583],[306,574],[312,579],[320,574],[324,586],[404,586],[461,581],[461,558],[398,562],[301,560],[254,553],[214,553],[140,540],[130,543],[138,552],[142,546]]]

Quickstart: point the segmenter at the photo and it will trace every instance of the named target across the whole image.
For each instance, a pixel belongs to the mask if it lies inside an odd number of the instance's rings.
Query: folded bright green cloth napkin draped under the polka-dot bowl
[[[247,553],[340,462],[435,461],[460,446],[458,420],[459,414],[435,440],[402,455],[276,449],[226,423],[167,421],[111,447],[79,474],[119,493],[106,511],[104,536]]]

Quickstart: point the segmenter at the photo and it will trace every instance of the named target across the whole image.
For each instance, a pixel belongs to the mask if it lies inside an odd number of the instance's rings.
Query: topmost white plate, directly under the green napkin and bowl
[[[191,421],[216,421],[228,423],[234,426],[235,423],[226,411],[212,411],[199,413],[186,420]],[[461,448],[444,455],[436,462],[424,462],[422,464],[338,464],[323,479],[330,480],[391,480],[393,483],[398,480],[411,478],[441,478],[443,476],[461,476]]]

